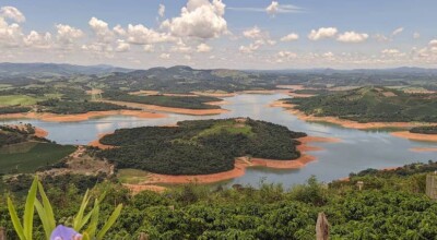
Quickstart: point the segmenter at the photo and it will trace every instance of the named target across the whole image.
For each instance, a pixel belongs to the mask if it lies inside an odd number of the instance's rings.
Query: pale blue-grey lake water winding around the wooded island
[[[295,183],[305,182],[311,175],[321,181],[347,177],[350,172],[357,172],[367,168],[398,167],[410,163],[436,160],[437,154],[432,152],[415,153],[412,147],[437,147],[437,143],[416,142],[391,136],[388,131],[362,131],[342,127],[305,122],[284,111],[283,108],[271,108],[274,100],[288,97],[282,94],[274,95],[238,95],[225,98],[229,105],[223,106],[231,110],[220,116],[184,116],[168,115],[163,119],[141,119],[135,117],[114,116],[91,119],[82,122],[45,122],[39,120],[3,120],[1,123],[23,122],[31,123],[48,131],[48,139],[61,144],[87,144],[98,134],[113,132],[121,128],[143,125],[174,124],[177,121],[192,119],[218,119],[249,117],[286,125],[293,131],[306,132],[315,136],[341,139],[340,143],[314,143],[323,147],[320,152],[310,152],[317,161],[308,164],[298,170],[276,170],[267,168],[249,168],[246,175],[227,181],[226,184],[251,184],[257,187],[260,181],[267,183],[282,183],[288,188]]]

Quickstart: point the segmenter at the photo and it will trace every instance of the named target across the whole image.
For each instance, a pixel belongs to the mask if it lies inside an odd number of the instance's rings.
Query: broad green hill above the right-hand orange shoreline
[[[437,96],[361,87],[309,98],[286,99],[306,115],[358,122],[437,122]]]

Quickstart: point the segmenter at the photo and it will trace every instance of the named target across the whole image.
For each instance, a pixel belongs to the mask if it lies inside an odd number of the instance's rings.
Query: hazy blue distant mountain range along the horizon
[[[70,76],[78,74],[107,74],[107,73],[128,73],[140,75],[160,76],[180,76],[192,77],[200,76],[204,73],[226,76],[246,76],[248,73],[270,73],[270,74],[291,74],[291,73],[317,73],[317,74],[335,74],[335,73],[362,73],[362,74],[437,74],[437,69],[411,68],[401,67],[393,69],[354,69],[354,70],[336,70],[336,69],[290,69],[290,70],[194,70],[187,65],[175,65],[172,68],[151,68],[149,70],[134,70],[107,64],[99,65],[74,65],[74,64],[58,64],[58,63],[0,63],[1,76]]]

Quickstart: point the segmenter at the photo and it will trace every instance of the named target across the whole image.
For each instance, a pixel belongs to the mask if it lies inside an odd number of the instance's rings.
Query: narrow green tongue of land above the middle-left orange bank
[[[205,96],[164,96],[164,95],[151,95],[151,96],[135,96],[128,93],[109,91],[103,94],[103,97],[109,100],[120,100],[137,104],[157,105],[162,107],[173,108],[188,108],[188,109],[217,109],[220,106],[208,105],[210,101],[218,101],[216,97]]]

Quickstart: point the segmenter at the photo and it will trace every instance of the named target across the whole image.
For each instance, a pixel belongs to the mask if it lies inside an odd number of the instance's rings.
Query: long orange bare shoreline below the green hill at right
[[[315,117],[308,116],[305,112],[296,109],[296,105],[286,104],[283,100],[276,100],[270,104],[270,107],[281,107],[284,108],[285,111],[296,116],[298,119],[308,122],[327,122],[333,123],[336,125],[341,125],[347,129],[357,129],[357,130],[370,130],[370,129],[385,129],[385,128],[397,128],[397,129],[408,129],[414,127],[424,127],[424,125],[433,125],[432,123],[424,122],[366,122],[361,123],[357,121],[340,119],[338,117]]]

